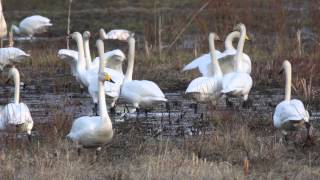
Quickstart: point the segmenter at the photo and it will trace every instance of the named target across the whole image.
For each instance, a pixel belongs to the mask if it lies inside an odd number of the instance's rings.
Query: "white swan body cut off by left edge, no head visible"
[[[0,70],[3,70],[3,68],[7,65],[20,63],[28,57],[30,57],[30,54],[25,53],[19,48],[0,48]]]

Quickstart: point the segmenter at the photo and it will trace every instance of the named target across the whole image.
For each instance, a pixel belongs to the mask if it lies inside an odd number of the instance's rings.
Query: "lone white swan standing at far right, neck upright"
[[[288,125],[287,128],[295,128],[305,125],[309,131],[309,113],[304,108],[303,103],[298,99],[291,100],[291,64],[285,60],[282,64],[282,70],[286,76],[285,98],[280,102],[273,115],[273,124],[276,128],[282,125]]]

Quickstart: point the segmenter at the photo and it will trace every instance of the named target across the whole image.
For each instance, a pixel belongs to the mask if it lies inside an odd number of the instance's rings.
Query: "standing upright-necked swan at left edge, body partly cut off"
[[[19,103],[20,96],[20,75],[19,71],[12,67],[9,70],[9,79],[14,81],[14,102],[7,104],[0,113],[0,129],[5,129],[7,126],[14,125],[19,128],[19,131],[26,132],[31,135],[33,120],[29,108],[24,103]],[[8,79],[8,80],[9,80]],[[30,137],[30,136],[29,136]]]

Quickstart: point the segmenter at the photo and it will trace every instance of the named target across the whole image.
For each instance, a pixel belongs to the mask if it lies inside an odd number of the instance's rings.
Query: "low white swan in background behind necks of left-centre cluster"
[[[119,41],[128,41],[129,37],[133,37],[134,33],[125,29],[113,29],[108,33],[103,28],[100,29],[100,38],[103,40],[112,39]]]

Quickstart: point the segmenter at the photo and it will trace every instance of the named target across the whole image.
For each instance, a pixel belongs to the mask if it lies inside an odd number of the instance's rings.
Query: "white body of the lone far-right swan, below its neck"
[[[277,128],[288,121],[301,120],[309,122],[309,113],[304,108],[303,103],[297,99],[282,101],[277,105],[273,115],[273,123]]]

